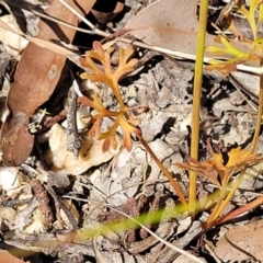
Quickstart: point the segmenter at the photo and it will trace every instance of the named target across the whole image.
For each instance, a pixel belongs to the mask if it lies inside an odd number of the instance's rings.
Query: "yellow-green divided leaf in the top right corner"
[[[258,31],[260,23],[263,20],[263,4],[261,0],[251,0],[250,8],[248,9],[242,0],[235,0],[236,7],[233,10],[244,15],[248,20],[253,39],[248,39],[243,36],[236,26],[231,12],[226,14],[229,25],[228,31],[232,32],[237,38],[235,41],[227,39],[226,36],[219,36],[219,42],[224,47],[217,47],[215,45],[207,46],[206,52],[214,56],[221,56],[221,58],[228,58],[227,61],[210,59],[211,65],[206,66],[207,70],[218,70],[225,77],[231,71],[236,70],[238,64],[260,61],[263,57],[262,39],[258,39]],[[256,16],[258,13],[258,16]],[[247,47],[247,48],[244,48]]]

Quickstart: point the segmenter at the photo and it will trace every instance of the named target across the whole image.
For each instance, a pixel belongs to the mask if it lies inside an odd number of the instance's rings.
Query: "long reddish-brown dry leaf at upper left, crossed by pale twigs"
[[[69,0],[73,9],[88,13],[95,0]],[[66,9],[59,1],[53,0],[46,10],[48,15],[78,25],[79,19]],[[83,13],[84,15],[84,13]],[[37,38],[49,41],[59,39],[71,43],[76,31],[56,23],[41,21]],[[32,151],[34,136],[28,133],[28,117],[52,95],[66,61],[66,56],[44,49],[34,43],[25,48],[15,71],[8,107],[10,115],[2,126],[0,140],[3,163],[19,165],[26,160]]]

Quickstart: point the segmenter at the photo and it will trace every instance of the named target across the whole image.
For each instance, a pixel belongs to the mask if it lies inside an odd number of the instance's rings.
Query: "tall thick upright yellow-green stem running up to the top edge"
[[[203,81],[203,64],[205,52],[206,25],[207,25],[208,0],[201,1],[199,24],[196,47],[196,62],[194,77],[194,94],[193,94],[193,116],[192,116],[192,138],[191,138],[191,157],[198,159],[198,142],[199,142],[199,108],[201,93]],[[190,188],[188,188],[188,211],[192,217],[195,216],[196,209],[196,172],[190,172]]]

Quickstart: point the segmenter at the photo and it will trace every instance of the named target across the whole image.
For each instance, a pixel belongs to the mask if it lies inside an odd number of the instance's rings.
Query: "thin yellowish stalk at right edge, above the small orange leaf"
[[[260,62],[260,67],[263,67],[263,60]],[[261,130],[261,121],[262,121],[262,108],[263,108],[263,76],[260,75],[260,94],[259,94],[259,108],[255,124],[255,132],[253,140],[251,142],[251,151],[254,151]]]

